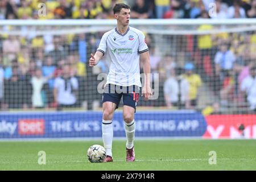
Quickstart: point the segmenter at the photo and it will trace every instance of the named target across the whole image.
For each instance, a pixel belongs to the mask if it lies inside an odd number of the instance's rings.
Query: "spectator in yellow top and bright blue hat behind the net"
[[[189,109],[195,109],[197,106],[198,89],[201,86],[201,77],[200,75],[193,73],[195,66],[192,63],[186,63],[184,69],[185,74],[182,76],[189,83]]]

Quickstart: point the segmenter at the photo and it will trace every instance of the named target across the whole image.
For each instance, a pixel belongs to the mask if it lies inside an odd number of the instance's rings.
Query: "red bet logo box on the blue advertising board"
[[[43,135],[44,119],[19,119],[18,133],[20,135]]]

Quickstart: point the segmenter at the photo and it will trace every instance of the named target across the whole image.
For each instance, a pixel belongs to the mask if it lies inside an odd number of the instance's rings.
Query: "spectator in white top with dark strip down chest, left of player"
[[[63,76],[57,77],[54,82],[54,100],[57,110],[63,107],[75,107],[79,84],[76,77],[71,76],[71,68],[68,64],[63,67]]]

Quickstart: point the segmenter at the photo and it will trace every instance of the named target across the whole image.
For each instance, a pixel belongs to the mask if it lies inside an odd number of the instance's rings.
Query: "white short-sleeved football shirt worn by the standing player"
[[[139,54],[148,51],[141,31],[128,27],[125,34],[120,34],[117,28],[113,28],[102,36],[97,51],[109,61],[106,84],[141,87]]]

